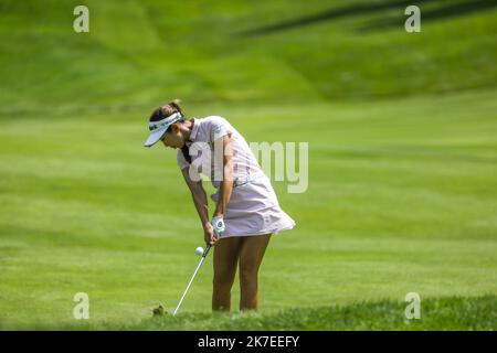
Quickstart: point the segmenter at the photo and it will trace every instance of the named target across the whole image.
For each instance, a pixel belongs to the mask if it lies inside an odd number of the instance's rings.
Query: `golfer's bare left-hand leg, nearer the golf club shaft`
[[[231,309],[231,287],[236,274],[242,238],[220,238],[214,245],[212,310]]]

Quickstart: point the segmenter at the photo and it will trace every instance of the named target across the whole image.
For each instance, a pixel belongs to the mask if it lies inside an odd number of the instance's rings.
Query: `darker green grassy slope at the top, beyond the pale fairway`
[[[421,1],[420,7],[430,13],[467,2]],[[72,29],[72,11],[81,3],[91,11],[88,34]],[[363,10],[370,4],[6,0],[0,87],[8,89],[0,95],[1,111],[148,108],[171,95],[190,101],[286,103],[495,87],[495,7],[427,18],[421,33],[408,34],[404,6]],[[307,25],[241,34],[353,8]],[[378,21],[396,25],[364,30]]]

